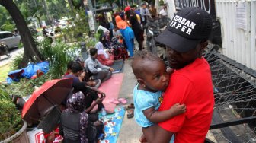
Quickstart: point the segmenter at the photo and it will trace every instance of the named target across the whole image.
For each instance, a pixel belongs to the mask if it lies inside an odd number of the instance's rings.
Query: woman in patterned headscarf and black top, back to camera
[[[85,112],[85,96],[80,91],[67,101],[68,108],[60,117],[59,134],[63,143],[92,143],[96,142],[98,134],[103,132],[103,125],[98,121],[91,122]]]

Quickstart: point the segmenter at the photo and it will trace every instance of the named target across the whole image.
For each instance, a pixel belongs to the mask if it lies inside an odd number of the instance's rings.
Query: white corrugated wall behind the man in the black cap
[[[166,2],[168,17],[172,18],[175,12],[174,0]],[[244,20],[237,18],[238,4],[245,5]],[[215,7],[222,29],[223,54],[256,70],[256,0],[215,0]],[[239,15],[242,16],[241,13]],[[245,29],[238,28],[238,21],[246,25]]]

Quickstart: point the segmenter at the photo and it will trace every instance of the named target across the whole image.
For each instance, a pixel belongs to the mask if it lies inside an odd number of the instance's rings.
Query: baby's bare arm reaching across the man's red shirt
[[[186,112],[186,106],[184,104],[176,103],[174,106],[171,106],[169,110],[157,111],[154,107],[143,110],[144,115],[149,121],[158,123],[163,122],[167,119],[171,119],[178,114]]]

